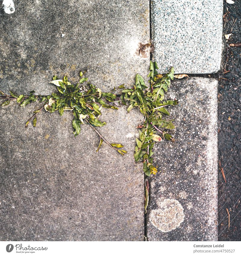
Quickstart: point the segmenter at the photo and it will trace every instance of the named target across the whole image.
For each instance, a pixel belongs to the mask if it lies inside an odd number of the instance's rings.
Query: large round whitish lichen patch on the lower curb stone
[[[176,229],[184,220],[182,205],[175,199],[158,199],[158,208],[151,210],[150,221],[161,232]]]

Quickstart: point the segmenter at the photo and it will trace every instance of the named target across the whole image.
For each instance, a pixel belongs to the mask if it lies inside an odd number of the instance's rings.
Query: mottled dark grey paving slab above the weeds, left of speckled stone
[[[149,69],[149,1],[14,1],[0,10],[0,87],[16,93],[52,92],[53,75],[77,81],[88,70],[102,90],[133,84]]]

